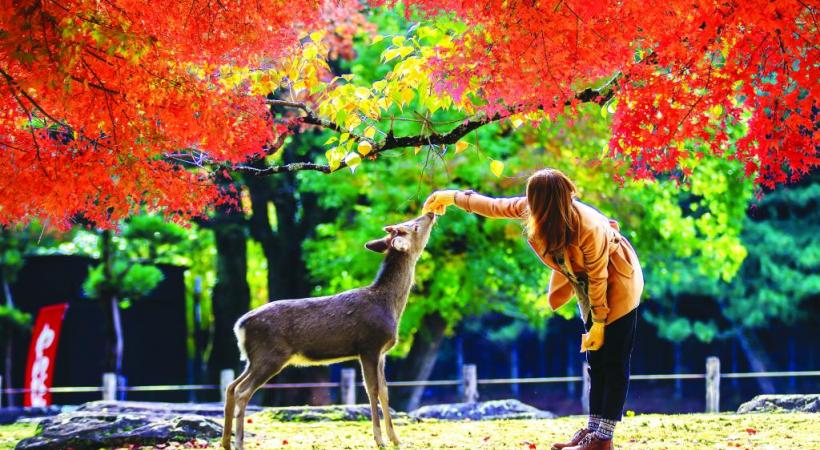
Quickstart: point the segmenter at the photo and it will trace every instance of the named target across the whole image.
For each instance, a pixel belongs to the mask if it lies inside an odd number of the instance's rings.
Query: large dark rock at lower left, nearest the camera
[[[120,412],[97,405],[40,420],[38,434],[17,443],[18,450],[99,449],[128,445],[155,446],[168,442],[210,440],[222,436],[222,426],[202,415],[157,411]],[[84,405],[85,406],[85,405]],[[138,409],[138,408],[133,408]]]

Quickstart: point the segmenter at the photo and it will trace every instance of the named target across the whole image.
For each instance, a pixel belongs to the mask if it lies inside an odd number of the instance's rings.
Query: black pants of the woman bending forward
[[[629,361],[635,344],[638,308],[604,328],[604,345],[587,352],[589,363],[589,413],[607,420],[621,420],[629,390]],[[592,320],[585,328],[589,331]]]

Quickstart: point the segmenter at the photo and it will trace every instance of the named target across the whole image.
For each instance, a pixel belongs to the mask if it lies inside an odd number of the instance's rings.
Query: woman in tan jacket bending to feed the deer
[[[549,302],[566,304],[573,292],[584,321],[581,351],[587,352],[591,388],[589,422],[568,442],[553,449],[611,449],[629,387],[629,360],[635,340],[643,274],[635,250],[617,222],[575,199],[575,186],[554,169],[536,172],[525,197],[490,198],[473,191],[430,195],[424,212],[444,214],[455,205],[491,218],[527,223],[527,242],[553,269]]]

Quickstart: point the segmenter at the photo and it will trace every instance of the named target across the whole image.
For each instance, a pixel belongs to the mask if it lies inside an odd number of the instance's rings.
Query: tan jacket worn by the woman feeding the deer
[[[526,219],[529,212],[527,197],[491,198],[459,192],[455,204],[465,211],[492,218]],[[592,318],[610,324],[640,303],[643,272],[638,255],[621,236],[617,222],[579,201],[573,201],[573,207],[578,212],[579,229],[564,258],[570,261],[573,272],[585,273],[589,278]],[[552,256],[544,254],[542,243],[527,241],[541,261],[553,269],[548,299],[552,309],[558,309],[572,298],[572,285]]]

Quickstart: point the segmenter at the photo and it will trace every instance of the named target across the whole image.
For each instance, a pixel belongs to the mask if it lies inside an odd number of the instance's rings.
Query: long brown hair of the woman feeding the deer
[[[562,252],[572,242],[578,222],[572,207],[576,192],[572,181],[555,169],[539,170],[527,180],[527,232],[544,244],[545,254]]]

